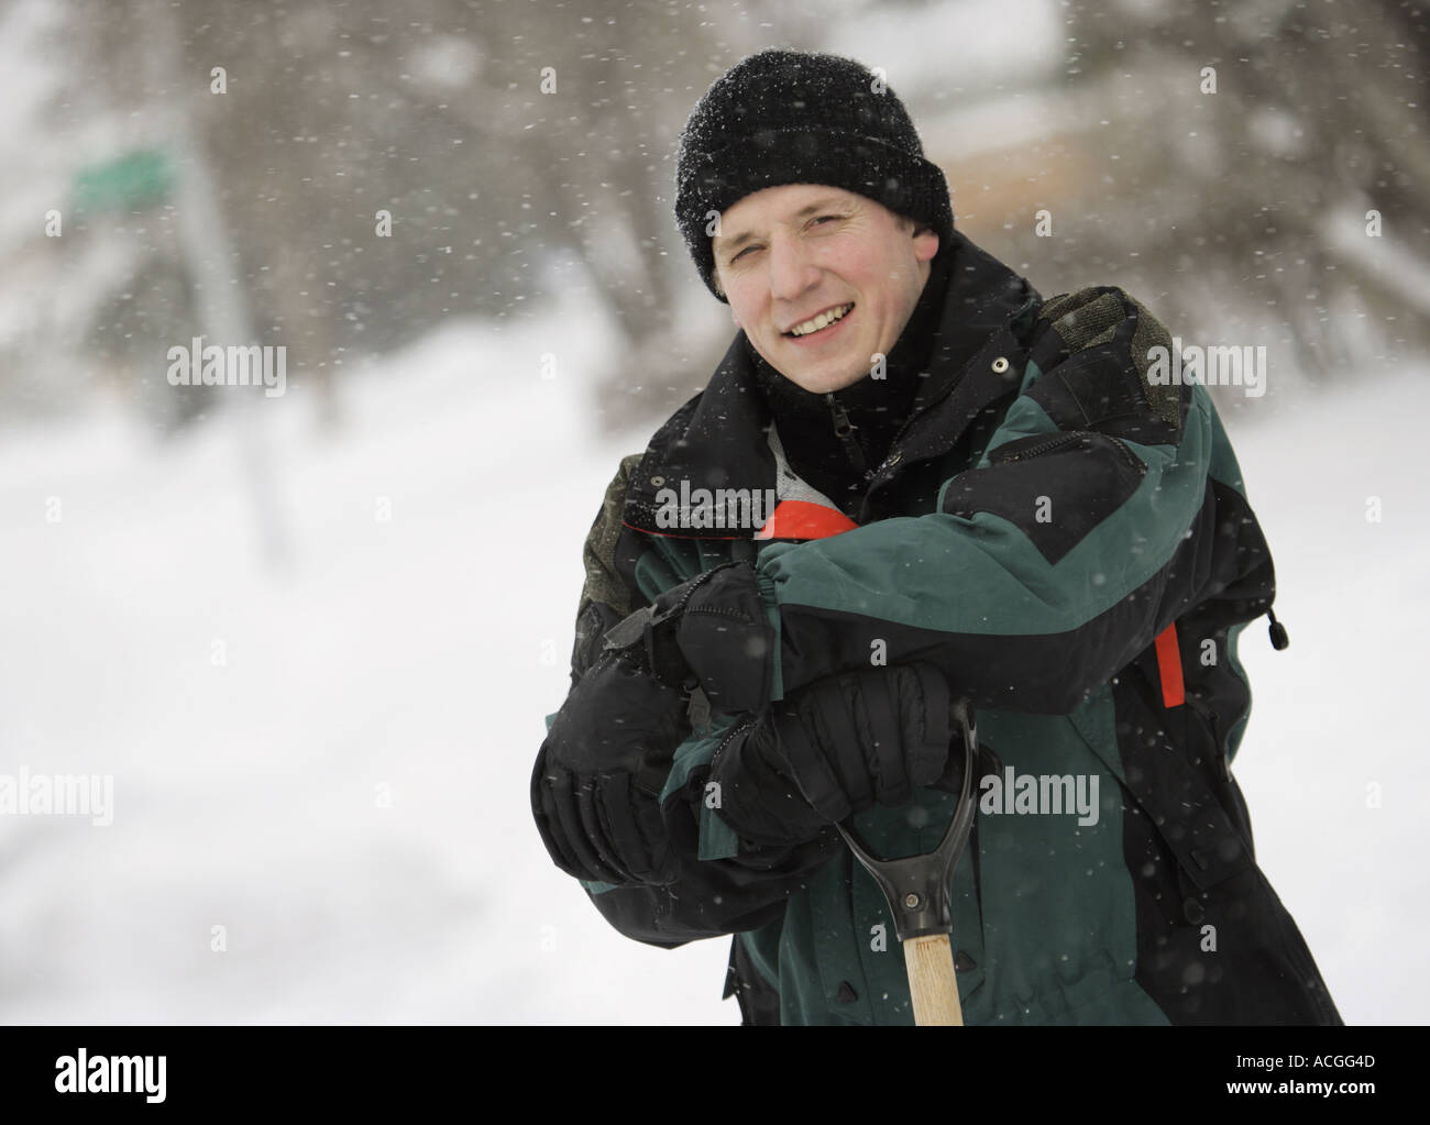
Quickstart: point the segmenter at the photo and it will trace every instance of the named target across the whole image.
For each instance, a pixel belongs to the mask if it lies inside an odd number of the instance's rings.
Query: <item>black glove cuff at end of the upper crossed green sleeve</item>
[[[736,715],[769,700],[775,630],[755,568],[725,563],[672,586],[606,633],[671,688],[704,689],[711,708]]]

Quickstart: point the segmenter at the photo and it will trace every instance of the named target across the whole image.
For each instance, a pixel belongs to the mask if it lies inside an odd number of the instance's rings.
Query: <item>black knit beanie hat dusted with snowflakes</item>
[[[788,183],[842,187],[952,240],[948,183],[924,159],[914,123],[874,71],[837,54],[782,49],[721,74],[681,133],[675,222],[711,293],[711,212]]]

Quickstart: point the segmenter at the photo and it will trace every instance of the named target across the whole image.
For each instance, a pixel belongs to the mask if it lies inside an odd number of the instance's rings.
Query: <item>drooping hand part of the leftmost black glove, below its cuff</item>
[[[661,819],[675,748],[689,736],[688,698],[621,653],[572,688],[532,770],[532,813],[558,868],[618,886],[679,875]]]

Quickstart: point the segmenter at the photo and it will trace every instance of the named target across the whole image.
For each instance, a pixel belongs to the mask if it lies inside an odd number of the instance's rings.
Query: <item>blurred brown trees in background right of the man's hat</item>
[[[1085,250],[1135,254],[1155,292],[1200,309],[1204,336],[1280,333],[1313,379],[1364,375],[1367,347],[1430,347],[1424,4],[1065,13],[1065,89],[1114,119],[1091,142],[1104,176]],[[1127,120],[1141,122],[1131,136]]]

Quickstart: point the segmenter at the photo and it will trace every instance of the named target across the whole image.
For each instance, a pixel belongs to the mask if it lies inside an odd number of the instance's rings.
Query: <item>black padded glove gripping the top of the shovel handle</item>
[[[950,753],[950,702],[944,673],[922,662],[817,680],[716,750],[718,813],[752,843],[791,843],[874,805],[907,805],[917,786],[951,789],[962,750]]]

